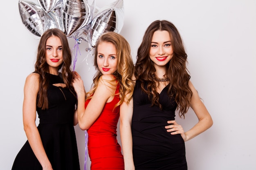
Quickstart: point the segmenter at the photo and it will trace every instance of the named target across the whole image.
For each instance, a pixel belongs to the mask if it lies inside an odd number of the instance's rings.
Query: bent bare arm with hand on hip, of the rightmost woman
[[[178,125],[176,121],[168,121],[168,124],[173,125],[168,125],[165,127],[166,129],[168,129],[167,132],[171,132],[171,135],[181,134],[184,141],[188,141],[196,137],[213,125],[211,115],[209,114],[207,108],[204,106],[198,95],[198,92],[195,90],[195,87],[190,81],[189,87],[192,91],[190,107],[193,109],[195,115],[198,117],[198,123],[195,124],[195,126],[193,126],[193,128],[191,128],[187,132],[184,132],[182,126]]]

